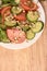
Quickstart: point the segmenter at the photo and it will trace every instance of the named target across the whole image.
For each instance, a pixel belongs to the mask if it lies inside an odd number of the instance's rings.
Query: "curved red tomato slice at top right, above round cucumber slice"
[[[21,5],[22,5],[22,8],[25,10],[25,11],[35,11],[35,10],[37,10],[38,9],[38,7],[37,7],[37,4],[36,3],[31,3],[31,5],[28,7],[27,4],[24,4],[24,3],[22,3],[21,2]]]

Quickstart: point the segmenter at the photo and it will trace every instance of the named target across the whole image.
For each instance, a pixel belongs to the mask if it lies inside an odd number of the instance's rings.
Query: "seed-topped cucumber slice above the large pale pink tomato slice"
[[[4,25],[7,26],[14,26],[16,25],[16,21],[13,20],[13,15],[9,15],[4,19]]]

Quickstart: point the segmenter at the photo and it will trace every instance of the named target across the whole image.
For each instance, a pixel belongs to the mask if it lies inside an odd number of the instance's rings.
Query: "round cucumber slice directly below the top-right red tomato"
[[[35,22],[37,21],[39,17],[39,14],[37,11],[33,12],[33,11],[28,11],[27,13],[27,20],[31,21],[31,22]]]

